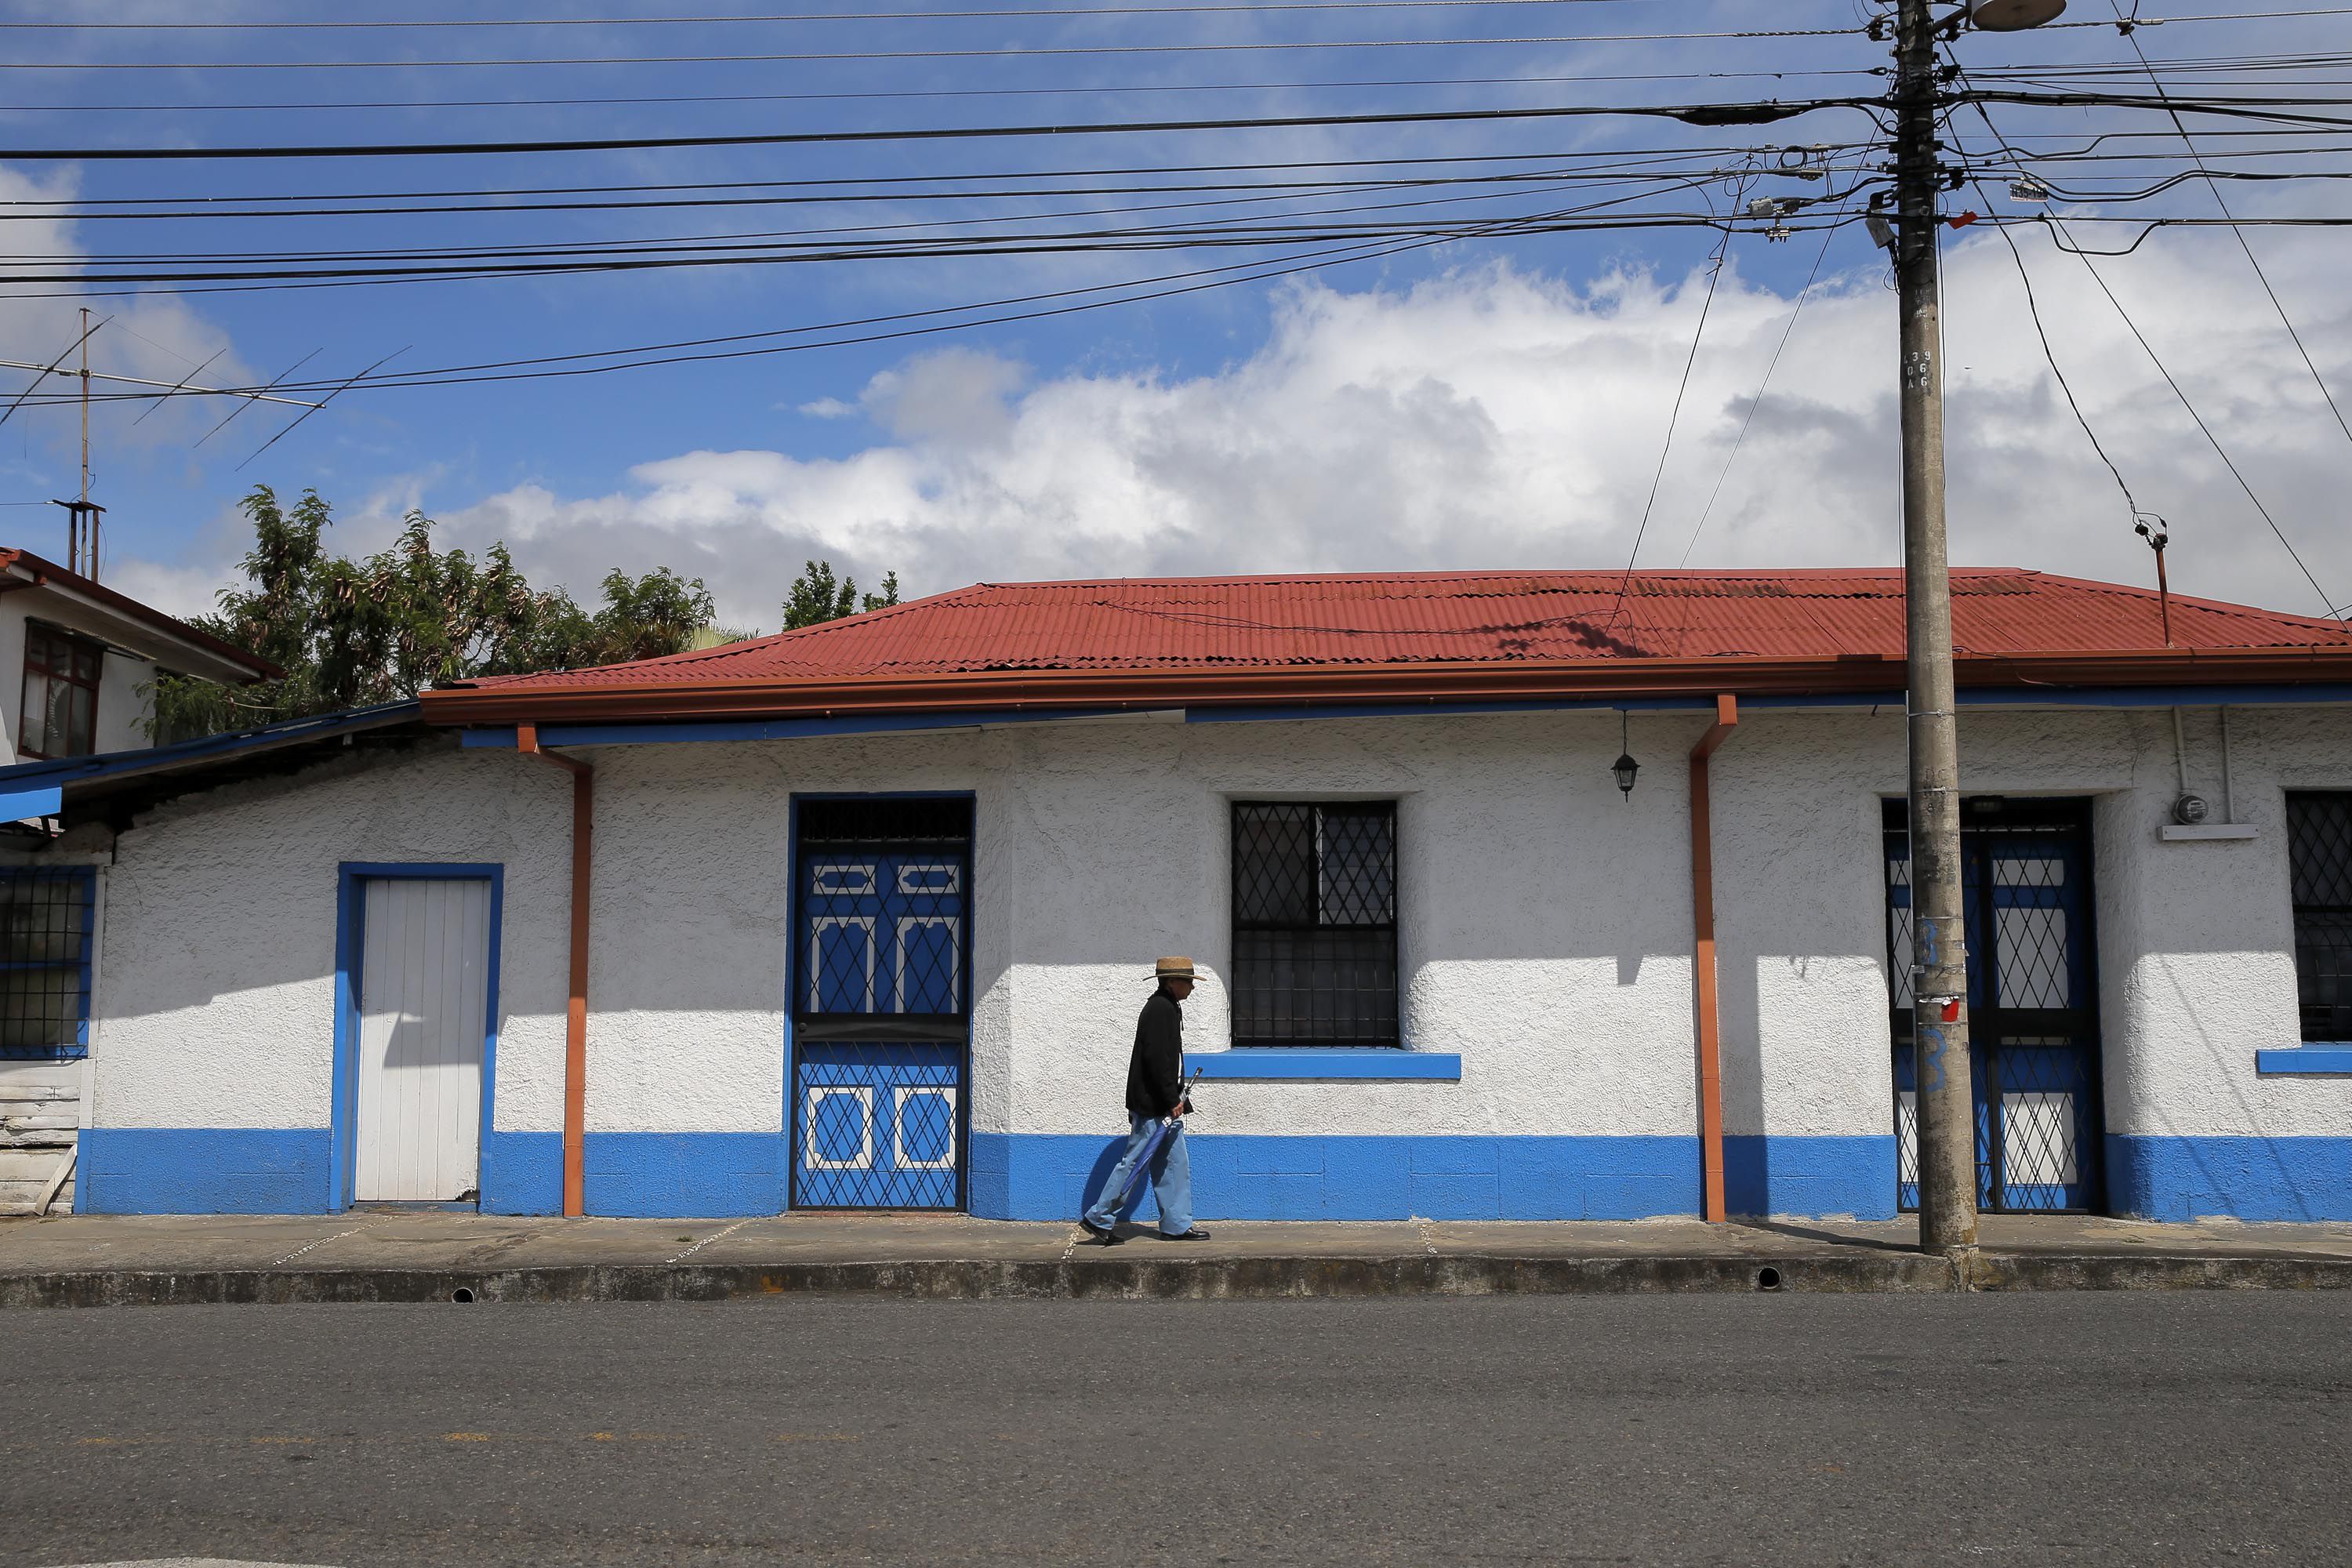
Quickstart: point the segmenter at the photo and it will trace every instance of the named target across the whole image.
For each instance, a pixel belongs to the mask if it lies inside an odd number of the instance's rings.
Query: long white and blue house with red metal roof
[[[2352,1218],[2352,630],[1952,595],[1987,1206]],[[1185,952],[1204,1218],[1884,1218],[1900,651],[1889,571],[978,585],[0,792],[94,1211],[1068,1218]]]

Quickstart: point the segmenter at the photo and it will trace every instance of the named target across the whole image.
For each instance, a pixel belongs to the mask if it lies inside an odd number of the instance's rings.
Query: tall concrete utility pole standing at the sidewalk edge
[[[1943,329],[1936,280],[1936,21],[1896,14],[1896,299],[1903,327],[1903,614],[1910,661],[1912,1065],[1919,1251],[1976,1246],[1976,1103],[1962,910],[1952,576],[1943,538]]]

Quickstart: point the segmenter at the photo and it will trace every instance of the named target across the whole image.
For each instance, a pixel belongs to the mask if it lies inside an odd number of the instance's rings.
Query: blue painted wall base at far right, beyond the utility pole
[[[2136,1220],[2352,1220],[2352,1138],[2107,1133],[2107,1211]]]

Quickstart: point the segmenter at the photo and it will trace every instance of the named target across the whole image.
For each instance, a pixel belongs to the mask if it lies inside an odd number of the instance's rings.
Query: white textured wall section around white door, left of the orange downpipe
[[[327,764],[162,806],[106,886],[96,1126],[327,1126],[336,865],[506,863],[496,1126],[562,1126],[572,788],[515,752]]]

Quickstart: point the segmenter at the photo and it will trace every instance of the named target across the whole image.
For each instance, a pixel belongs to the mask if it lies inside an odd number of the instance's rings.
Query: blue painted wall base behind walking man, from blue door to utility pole
[[[1202,1220],[1646,1220],[1698,1213],[1698,1138],[1188,1133]],[[971,1213],[1068,1220],[1120,1138],[974,1133]],[[1893,1218],[1893,1138],[1726,1140],[1733,1213]],[[1145,1187],[1134,1213],[1157,1218]]]

